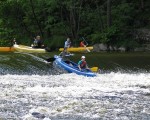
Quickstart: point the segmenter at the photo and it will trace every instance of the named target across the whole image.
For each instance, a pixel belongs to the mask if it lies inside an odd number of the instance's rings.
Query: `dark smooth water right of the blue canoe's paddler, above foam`
[[[77,61],[82,54],[73,59]],[[89,66],[98,66],[103,72],[149,72],[150,53],[88,53],[83,54]]]

